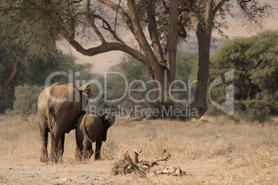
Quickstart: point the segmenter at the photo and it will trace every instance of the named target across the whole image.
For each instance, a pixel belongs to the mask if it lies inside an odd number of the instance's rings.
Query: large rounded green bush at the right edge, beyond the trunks
[[[211,57],[210,82],[234,69],[235,107],[277,114],[277,56],[278,30],[232,39]],[[217,104],[225,104],[225,85],[211,90],[210,95]]]

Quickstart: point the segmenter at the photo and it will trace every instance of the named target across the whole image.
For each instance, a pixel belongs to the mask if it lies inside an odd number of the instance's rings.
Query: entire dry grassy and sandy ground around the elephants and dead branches
[[[277,126],[219,120],[116,121],[103,143],[103,160],[89,162],[75,161],[73,131],[66,135],[64,163],[49,164],[39,162],[37,118],[0,117],[0,184],[277,184]],[[139,160],[149,161],[166,148],[172,155],[166,166],[179,166],[186,175],[155,175],[157,166],[146,177],[112,175],[127,150],[133,158],[140,148]]]

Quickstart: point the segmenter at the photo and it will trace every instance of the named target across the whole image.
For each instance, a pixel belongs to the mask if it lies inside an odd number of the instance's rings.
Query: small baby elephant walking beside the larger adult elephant
[[[82,115],[75,130],[77,160],[89,159],[93,155],[92,142],[95,142],[95,160],[100,159],[102,142],[106,141],[107,130],[115,123],[115,116],[104,113],[98,116],[91,113]]]

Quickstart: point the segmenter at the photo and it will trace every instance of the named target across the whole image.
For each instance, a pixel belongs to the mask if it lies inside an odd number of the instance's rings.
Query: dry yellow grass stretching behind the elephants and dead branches
[[[130,153],[133,149],[142,149],[140,159],[151,160],[166,149],[176,163],[186,164],[195,159],[204,162],[221,160],[217,170],[206,171],[205,175],[225,176],[223,182],[270,183],[277,180],[277,136],[277,117],[272,117],[263,126],[234,123],[226,117],[203,117],[200,121],[190,122],[116,121],[109,128],[107,141],[102,144],[101,156],[105,160],[118,160],[127,150]],[[22,121],[1,115],[0,142],[0,157],[39,159],[41,143],[37,116]],[[75,132],[72,131],[66,135],[66,164],[76,164],[74,153]]]

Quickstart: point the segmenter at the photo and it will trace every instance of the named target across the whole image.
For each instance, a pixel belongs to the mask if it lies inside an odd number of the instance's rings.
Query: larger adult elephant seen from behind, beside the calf
[[[65,133],[75,129],[77,119],[85,114],[91,96],[91,87],[78,89],[75,84],[53,84],[38,99],[39,131],[41,135],[41,162],[62,162]],[[48,159],[48,132],[51,136]]]

